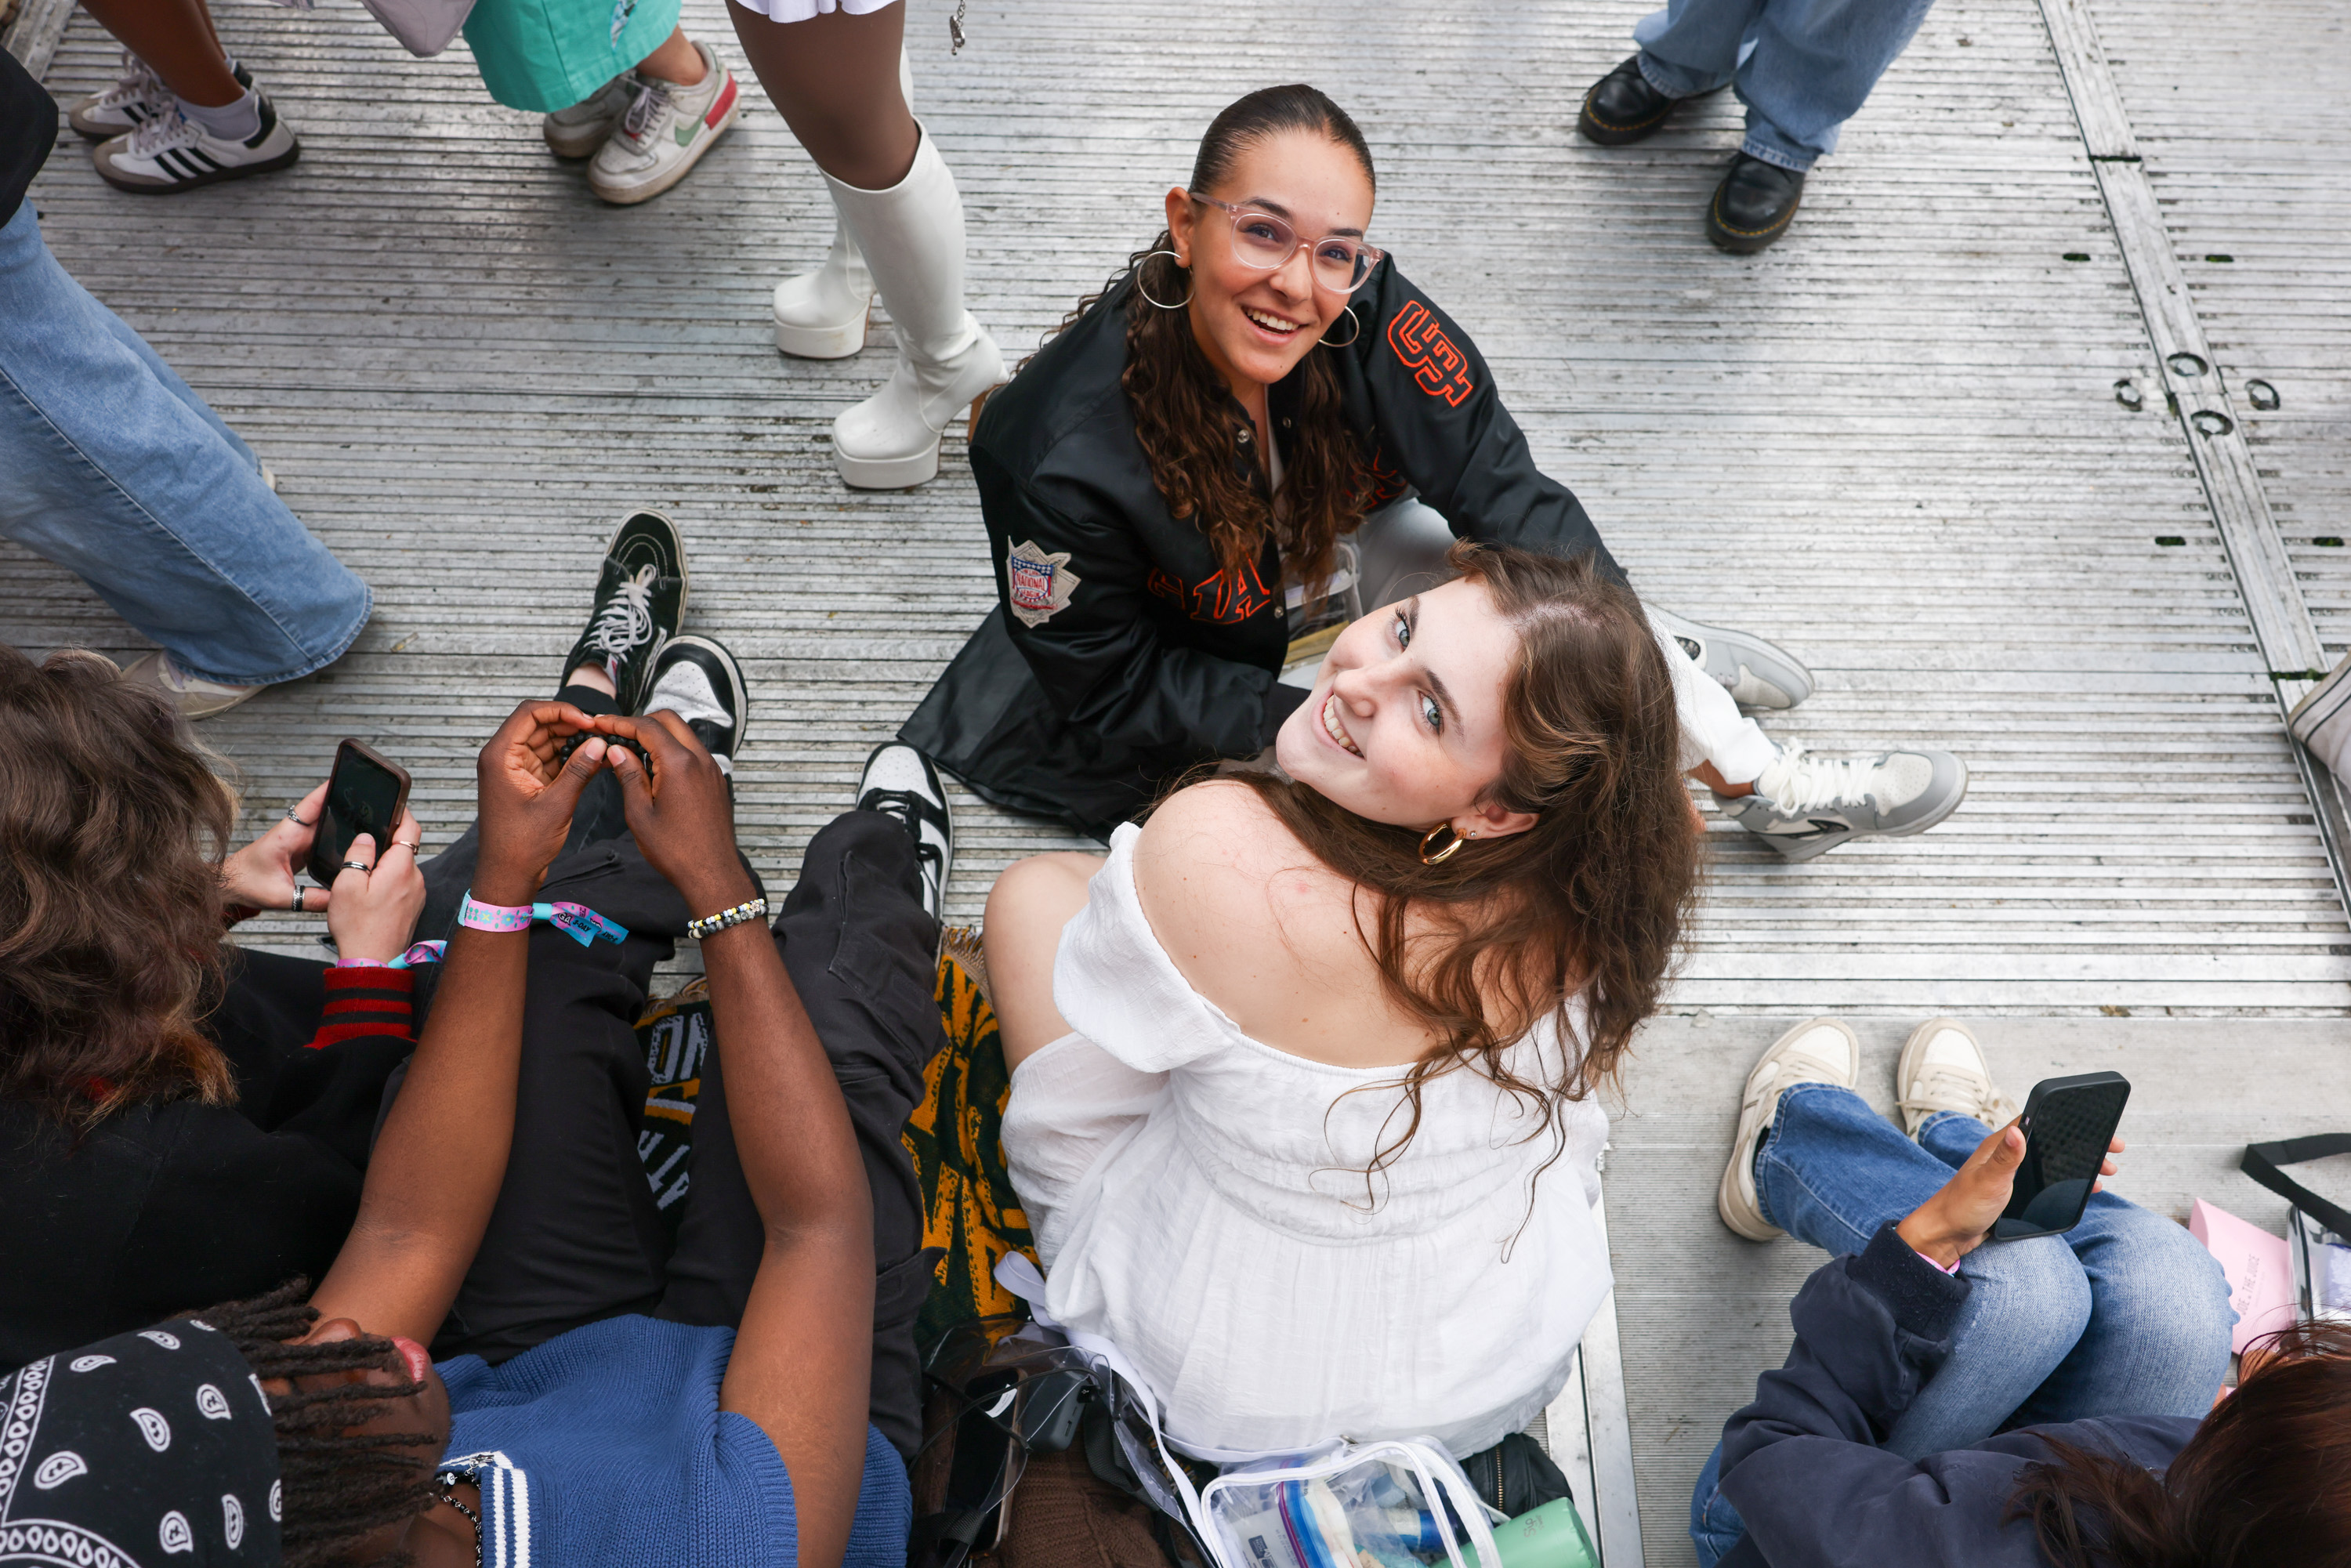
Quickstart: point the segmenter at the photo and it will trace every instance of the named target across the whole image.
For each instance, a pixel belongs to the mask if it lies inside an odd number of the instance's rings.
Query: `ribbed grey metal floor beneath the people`
[[[1782,1244],[1751,1302],[1726,1295],[1744,1276],[1704,1274],[1728,1246],[1704,1218],[1728,1138],[1716,1098],[1777,1025],[1737,1023],[1719,1063],[1669,1072],[1700,1044],[1688,1030],[1756,1011],[2144,1020],[2351,1001],[2351,929],[2036,0],[1944,0],[1813,176],[1791,237],[1744,261],[1700,233],[1737,141],[1728,96],[1641,148],[1573,136],[1585,85],[1629,52],[1639,0],[983,0],[959,59],[945,5],[912,5],[917,113],[966,195],[973,310],[1009,353],[1150,237],[1220,103],[1314,80],[1373,139],[1375,237],[1476,334],[1535,451],[1641,588],[1810,661],[1820,693],[1770,729],[1820,748],[1925,741],[1975,771],[1935,832],[1803,867],[1714,835],[1683,1018],[1657,1025],[1657,1067],[1634,1084],[1636,1100],[1653,1091],[1634,1110],[1660,1121],[1620,1128],[1610,1171],[1648,1561],[1688,1561],[1679,1509],[1707,1427],[1777,1359],[1777,1302],[1810,1267]],[[2339,651],[2351,7],[2092,9],[2229,407]],[[719,0],[686,16],[726,38]],[[473,745],[550,686],[604,529],[651,503],[689,531],[696,628],[745,656],[743,835],[788,882],[865,748],[990,604],[990,578],[955,442],[919,491],[832,477],[828,421],[889,367],[879,317],[865,360],[785,362],[769,346],[766,289],[830,237],[783,122],[752,92],[691,181],[607,209],[529,115],[487,101],[463,49],[411,61],[341,0],[310,14],[235,0],[219,19],[303,162],[150,202],[63,148],[35,202],[66,266],[376,585],[350,658],[207,726],[256,811],[355,733],[416,771],[430,837],[451,837]],[[75,16],[49,87],[87,92],[110,71],[108,40]],[[2118,378],[2149,388],[2142,411],[2116,402]],[[2273,411],[2250,402],[2252,378],[2278,390]],[[141,646],[9,545],[0,625],[33,646]],[[969,919],[1009,858],[1056,839],[969,799],[959,811],[952,912]],[[1871,1027],[1878,1048],[1900,1039],[1890,1018]],[[2125,1048],[2114,1060],[2144,1070],[2142,1088],[2191,1107],[2222,1063],[2276,1084],[2295,1051],[2339,1044],[2297,1030],[2292,1051],[2259,1058],[2233,1034],[2142,1053],[2128,1032],[2041,1056]],[[1714,1333],[1723,1312],[1747,1316]]]

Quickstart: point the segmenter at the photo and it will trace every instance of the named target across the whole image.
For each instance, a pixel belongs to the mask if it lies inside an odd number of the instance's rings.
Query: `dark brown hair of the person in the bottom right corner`
[[[2351,1324],[2297,1324],[2245,1361],[2163,1474],[2043,1439],[2055,1458],[2017,1476],[2008,1519],[2059,1568],[2351,1563]]]

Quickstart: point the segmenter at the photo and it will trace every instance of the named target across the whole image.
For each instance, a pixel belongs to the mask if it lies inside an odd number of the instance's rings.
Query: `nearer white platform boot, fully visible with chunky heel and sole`
[[[1004,381],[997,341],[964,310],[964,202],[931,132],[889,190],[825,176],[898,336],[898,369],[832,421],[832,461],[856,489],[905,489],[938,473],[938,433]]]

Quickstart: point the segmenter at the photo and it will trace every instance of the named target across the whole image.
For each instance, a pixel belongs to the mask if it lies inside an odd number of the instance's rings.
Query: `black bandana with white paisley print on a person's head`
[[[0,1378],[0,1566],[259,1568],[277,1516],[268,1401],[200,1319]]]

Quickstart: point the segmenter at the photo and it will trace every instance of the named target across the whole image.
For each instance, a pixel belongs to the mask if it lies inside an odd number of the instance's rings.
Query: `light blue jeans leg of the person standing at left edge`
[[[0,226],[0,534],[233,686],[341,658],[374,607],[221,416],[56,266],[33,197]]]

